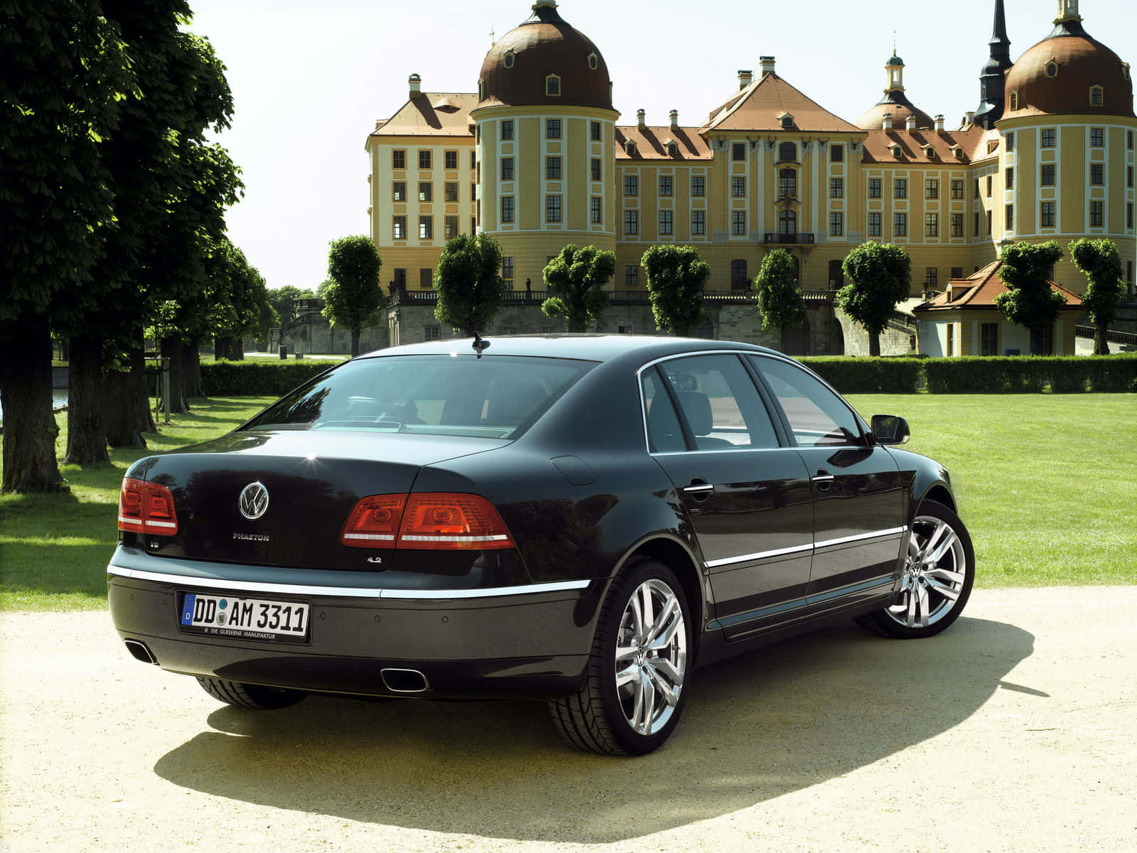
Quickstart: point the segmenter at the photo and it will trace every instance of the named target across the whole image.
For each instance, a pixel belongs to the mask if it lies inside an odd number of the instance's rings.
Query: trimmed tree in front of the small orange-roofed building
[[[1056,240],[1016,242],[1003,248],[998,276],[1007,291],[995,297],[997,307],[1012,323],[1030,330],[1030,353],[1041,355],[1041,332],[1053,326],[1065,297],[1051,288],[1054,265],[1062,259]]]

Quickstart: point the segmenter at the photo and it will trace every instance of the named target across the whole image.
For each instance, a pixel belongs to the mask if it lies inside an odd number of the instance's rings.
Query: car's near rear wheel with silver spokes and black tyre
[[[645,589],[647,590],[645,593]],[[654,605],[664,606],[653,619],[656,627],[665,626],[667,637],[659,648],[648,648],[646,637],[633,639],[634,616],[632,597],[647,595]],[[669,597],[670,596],[670,597]],[[680,623],[674,624],[674,607],[678,605]],[[648,627],[648,629],[652,626]],[[584,684],[575,696],[553,699],[549,711],[562,737],[573,746],[601,755],[646,755],[657,750],[671,736],[683,709],[687,690],[683,680],[690,671],[694,645],[691,618],[683,587],[666,565],[644,557],[629,561],[612,585],[608,597],[600,607],[592,651],[589,655]],[[646,631],[641,631],[641,635]],[[636,677],[623,687],[616,685],[616,648],[619,640],[624,648],[639,651],[623,672],[634,668]],[[673,676],[679,676],[678,690]],[[674,697],[672,703],[666,690]],[[637,704],[636,697],[640,698]],[[650,696],[650,698],[647,698]],[[661,706],[656,706],[658,696]],[[642,715],[637,709],[650,707]],[[629,718],[629,709],[632,717]],[[657,712],[657,713],[655,713]],[[642,731],[633,728],[633,721],[642,717]]]

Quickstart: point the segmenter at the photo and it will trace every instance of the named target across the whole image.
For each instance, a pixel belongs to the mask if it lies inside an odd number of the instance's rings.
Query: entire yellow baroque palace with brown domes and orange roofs
[[[832,291],[844,283],[843,258],[865,240],[912,256],[908,308],[937,293],[951,308],[977,282],[989,290],[988,265],[1006,242],[1065,246],[1077,237],[1117,243],[1131,298],[1129,65],[1086,32],[1078,0],[1057,0],[1053,28],[1013,63],[1003,0],[994,18],[980,102],[951,123],[915,105],[898,56],[885,65],[883,97],[854,122],[795,89],[764,56],[697,125],[681,124],[677,111],[667,124],[647,124],[642,110],[620,124],[604,56],[554,0],[538,0],[487,53],[476,93],[422,91],[413,74],[407,101],[367,136],[371,234],[392,291],[388,329],[370,342],[450,333],[432,315],[434,267],[448,238],[476,232],[501,245],[501,274],[514,290],[493,333],[563,329],[538,306],[542,270],[567,243],[616,255],[600,331],[655,332],[639,260],[653,243],[675,242],[697,247],[711,265],[699,333],[794,353],[863,351]],[[1034,23],[1045,33],[1046,22]],[[808,329],[785,340],[760,331],[748,291],[778,247],[794,256],[810,307]],[[1069,256],[1054,279],[1076,307],[1085,276]],[[984,330],[980,350],[964,314],[944,314],[962,317],[956,334],[929,336],[938,336],[939,354],[1002,353],[1001,342],[1019,340]],[[1065,315],[1053,351],[1072,348],[1074,318]],[[914,315],[898,314],[894,326],[885,351],[906,350]]]

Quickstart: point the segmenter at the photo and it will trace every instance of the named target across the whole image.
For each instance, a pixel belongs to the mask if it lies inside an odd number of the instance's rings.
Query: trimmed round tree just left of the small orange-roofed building
[[[837,304],[869,333],[869,355],[880,355],[880,333],[912,287],[912,258],[894,243],[866,242],[845,256],[841,270],[849,283],[837,291]]]

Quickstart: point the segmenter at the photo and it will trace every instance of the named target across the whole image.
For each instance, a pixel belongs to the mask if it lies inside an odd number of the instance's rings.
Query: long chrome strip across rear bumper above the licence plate
[[[198,578],[188,574],[147,572],[141,569],[124,569],[108,565],[107,574],[136,580],[152,580],[159,583],[175,583],[194,589],[236,589],[250,593],[276,593],[279,595],[319,595],[346,598],[385,598],[393,601],[437,601],[445,598],[491,598],[506,595],[537,595],[583,589],[591,581],[562,580],[550,583],[525,583],[515,587],[487,587],[482,589],[375,589],[371,587],[318,587],[302,583],[268,583],[251,580],[225,580],[223,578]]]

